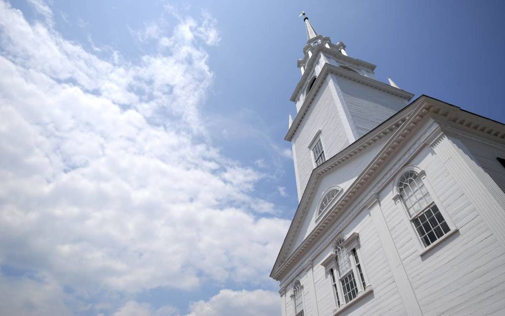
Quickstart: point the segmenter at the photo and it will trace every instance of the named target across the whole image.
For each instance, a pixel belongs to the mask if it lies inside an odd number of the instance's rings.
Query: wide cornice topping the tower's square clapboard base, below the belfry
[[[326,63],[323,66],[323,69],[321,70],[316,81],[314,82],[314,85],[312,86],[311,91],[309,92],[309,94],[305,98],[304,104],[300,107],[300,110],[298,111],[298,113],[294,117],[291,127],[289,127],[289,129],[286,133],[286,136],[284,137],[284,140],[289,141],[289,142],[292,140],[294,133],[296,132],[296,130],[298,129],[298,126],[301,124],[305,115],[307,114],[310,107],[312,106],[312,102],[314,101],[317,93],[319,92],[319,89],[321,88],[323,82],[325,81],[326,77],[329,74],[334,74],[334,75],[340,76],[342,78],[346,78],[346,79],[364,84],[366,86],[378,89],[379,91],[388,93],[390,95],[402,98],[407,101],[410,101],[412,99],[412,97],[414,96],[410,92],[395,88],[394,86],[391,86],[391,85],[386,84],[384,82],[380,82],[375,79],[360,75],[358,73],[343,69],[341,67]],[[304,73],[304,75],[305,75],[305,73]]]

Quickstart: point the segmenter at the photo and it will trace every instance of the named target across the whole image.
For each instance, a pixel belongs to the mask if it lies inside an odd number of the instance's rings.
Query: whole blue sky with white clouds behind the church
[[[505,121],[499,1],[0,1],[0,313],[279,312],[307,12],[403,89]]]

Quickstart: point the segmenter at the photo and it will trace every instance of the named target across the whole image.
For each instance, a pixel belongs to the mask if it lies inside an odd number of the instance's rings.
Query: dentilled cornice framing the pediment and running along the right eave
[[[360,140],[313,170],[272,269],[270,275],[272,278],[281,280],[293,264],[296,264],[300,257],[319,240],[325,230],[338,220],[339,214],[343,210],[351,203],[354,203],[356,199],[364,198],[362,194],[376,178],[376,174],[393,159],[395,153],[401,150],[401,147],[409,139],[419,133],[422,123],[430,117],[445,122],[447,125],[459,125],[462,129],[470,129],[470,131],[481,133],[483,136],[487,135],[487,137],[497,138],[501,141],[505,138],[503,124],[499,122],[483,118],[424,95],[419,97]],[[385,142],[381,144],[380,140],[385,140]],[[314,201],[319,198],[316,193],[320,192],[319,188],[323,186],[327,178],[326,174],[331,174],[332,169],[337,170],[337,172],[339,169],[343,170],[346,160],[358,161],[359,157],[366,153],[365,149],[371,147],[373,143],[379,145],[376,147],[378,151],[375,156],[369,160],[364,168],[359,168],[359,175],[348,186],[339,201],[316,223],[315,227],[309,232],[301,233],[300,231],[303,231],[304,228],[303,223],[310,216],[307,211],[308,207],[314,205]],[[302,234],[304,234],[304,238],[300,237]],[[299,242],[301,239],[302,241]]]

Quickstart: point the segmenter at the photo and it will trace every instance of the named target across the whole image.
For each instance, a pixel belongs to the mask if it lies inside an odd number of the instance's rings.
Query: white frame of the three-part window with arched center
[[[335,248],[336,244],[340,243],[344,248],[344,254],[347,256],[348,262],[350,264],[350,268],[345,271],[343,275],[340,275],[339,267],[338,267],[338,253],[336,253]],[[372,287],[368,281],[368,277],[365,271],[365,267],[363,264],[363,257],[361,255],[360,250],[360,242],[359,242],[359,234],[352,233],[349,237],[345,238],[344,235],[338,235],[333,243],[331,244],[332,250],[331,254],[323,260],[321,263],[326,268],[327,275],[330,276],[331,288],[333,291],[333,299],[336,306],[335,310],[345,309],[347,306],[354,304],[361,297],[364,296],[365,293],[371,292]],[[361,275],[358,269],[358,264],[355,260],[354,253],[358,257],[360,261],[361,267]],[[356,295],[350,299],[346,300],[344,295],[344,289],[342,286],[342,281],[346,276],[352,274],[354,277],[354,282],[356,283]],[[363,279],[361,278],[363,276]],[[365,283],[365,286],[363,285]]]

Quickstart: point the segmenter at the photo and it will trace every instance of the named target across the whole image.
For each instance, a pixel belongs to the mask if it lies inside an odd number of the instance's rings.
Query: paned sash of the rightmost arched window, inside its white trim
[[[409,170],[403,173],[398,180],[397,190],[425,247],[450,231],[418,172]]]

